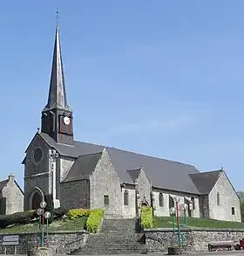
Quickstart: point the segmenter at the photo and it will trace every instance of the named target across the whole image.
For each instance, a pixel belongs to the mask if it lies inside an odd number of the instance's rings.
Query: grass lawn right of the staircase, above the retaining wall
[[[183,218],[180,218],[180,226],[183,226]],[[244,229],[244,223],[242,222],[231,222],[231,221],[220,221],[207,218],[187,218],[188,227],[208,227],[208,228],[240,228]],[[172,218],[170,217],[154,217],[153,227],[173,227]],[[175,220],[175,227],[177,227]]]

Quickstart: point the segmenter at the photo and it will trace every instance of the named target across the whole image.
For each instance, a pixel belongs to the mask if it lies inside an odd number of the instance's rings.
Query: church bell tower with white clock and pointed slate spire
[[[73,117],[67,103],[58,23],[51,66],[48,101],[42,111],[41,132],[58,143],[73,142]]]

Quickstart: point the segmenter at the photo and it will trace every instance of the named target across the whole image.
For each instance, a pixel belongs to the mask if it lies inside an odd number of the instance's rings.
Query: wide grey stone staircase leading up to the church
[[[143,233],[136,232],[139,219],[104,219],[101,232],[91,234],[84,247],[72,255],[146,253]]]

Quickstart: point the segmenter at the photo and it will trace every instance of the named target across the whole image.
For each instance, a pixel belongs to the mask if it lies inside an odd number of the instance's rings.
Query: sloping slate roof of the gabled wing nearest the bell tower
[[[78,156],[75,163],[71,166],[71,170],[67,176],[65,176],[63,183],[87,179],[95,170],[98,160],[102,154],[102,152],[99,152],[85,156]]]

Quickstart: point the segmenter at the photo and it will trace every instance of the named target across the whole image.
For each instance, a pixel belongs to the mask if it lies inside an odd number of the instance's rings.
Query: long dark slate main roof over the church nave
[[[59,144],[49,135],[44,133],[40,133],[39,135],[51,148],[56,149],[61,156],[78,158],[84,155],[100,153],[103,149],[106,149],[111,157],[112,165],[117,171],[122,183],[133,182],[132,176],[129,175],[126,170],[139,169],[143,165],[143,170],[153,186],[165,190],[184,191],[192,194],[199,193],[195,188],[192,179],[188,176],[190,173],[199,172],[193,165],[173,162],[153,156],[140,155],[122,149],[114,149],[86,142],[74,141],[72,145]],[[82,159],[84,158],[80,158],[77,165],[78,163],[83,164],[81,163]],[[72,180],[75,179],[76,171],[79,170],[75,165],[73,168],[74,170],[71,171],[71,173],[73,173],[71,175]],[[67,175],[67,180],[68,178],[70,179],[71,176]],[[65,179],[65,181],[67,180]]]

